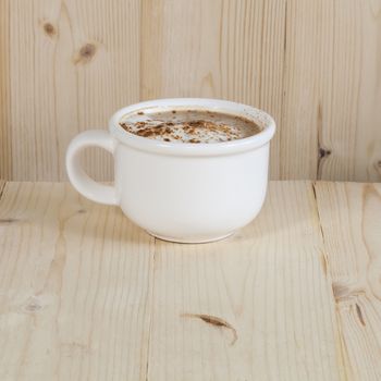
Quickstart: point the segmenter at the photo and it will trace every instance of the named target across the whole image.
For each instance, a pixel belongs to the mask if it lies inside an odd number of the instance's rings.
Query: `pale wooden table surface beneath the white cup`
[[[381,380],[381,184],[272,182],[214,244],[0,184],[0,380]]]

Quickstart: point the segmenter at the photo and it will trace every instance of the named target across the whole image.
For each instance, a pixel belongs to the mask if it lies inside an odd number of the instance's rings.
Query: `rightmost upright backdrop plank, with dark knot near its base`
[[[281,179],[381,180],[380,12],[287,1]]]

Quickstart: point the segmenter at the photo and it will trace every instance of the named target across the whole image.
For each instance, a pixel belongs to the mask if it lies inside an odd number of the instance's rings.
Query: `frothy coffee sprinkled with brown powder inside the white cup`
[[[243,116],[208,110],[138,111],[122,118],[128,133],[172,143],[221,143],[258,134],[261,128]]]

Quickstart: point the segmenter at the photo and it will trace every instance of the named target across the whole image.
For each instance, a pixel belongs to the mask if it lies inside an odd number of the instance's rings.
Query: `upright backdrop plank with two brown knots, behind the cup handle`
[[[11,15],[11,109],[2,110],[10,113],[2,128],[12,131],[12,149],[4,152],[11,155],[11,179],[65,179],[70,139],[83,130],[106,128],[115,109],[138,100],[139,1],[1,3]],[[110,177],[105,152],[86,159],[90,174]]]

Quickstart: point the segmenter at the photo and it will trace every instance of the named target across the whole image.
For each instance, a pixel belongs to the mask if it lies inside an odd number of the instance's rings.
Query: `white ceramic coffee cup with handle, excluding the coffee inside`
[[[140,137],[119,125],[122,116],[147,109],[225,112],[253,120],[261,132],[224,143],[185,144]],[[149,234],[180,243],[211,242],[245,226],[261,209],[274,132],[273,119],[249,106],[202,98],[150,100],[115,112],[109,132],[77,135],[67,148],[66,169],[82,195],[120,206]],[[96,183],[84,172],[78,153],[86,147],[113,155],[114,186]]]

